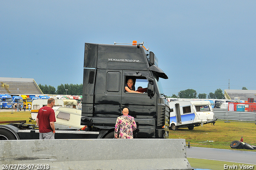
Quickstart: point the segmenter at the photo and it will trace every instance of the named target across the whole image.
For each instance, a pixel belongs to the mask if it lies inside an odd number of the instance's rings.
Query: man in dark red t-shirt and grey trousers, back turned
[[[36,124],[39,127],[39,139],[54,139],[54,122],[56,122],[55,113],[52,109],[54,105],[55,100],[53,98],[49,98],[47,106],[38,110]]]

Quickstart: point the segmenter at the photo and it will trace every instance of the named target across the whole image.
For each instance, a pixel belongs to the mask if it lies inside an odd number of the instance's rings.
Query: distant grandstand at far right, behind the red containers
[[[248,100],[248,98],[256,99],[256,90],[224,90],[227,100],[234,100],[235,97],[240,97],[240,100]]]

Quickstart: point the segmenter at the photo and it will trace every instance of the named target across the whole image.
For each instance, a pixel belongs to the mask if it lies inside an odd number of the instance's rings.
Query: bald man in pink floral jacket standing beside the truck
[[[132,139],[133,133],[132,131],[137,129],[136,122],[134,117],[129,116],[128,108],[124,108],[122,111],[123,115],[119,116],[116,119],[116,126],[115,126],[115,138],[119,139]],[[119,130],[119,136],[118,136]]]

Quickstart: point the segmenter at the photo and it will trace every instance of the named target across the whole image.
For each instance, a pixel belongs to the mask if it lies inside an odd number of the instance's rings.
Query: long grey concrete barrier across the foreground
[[[0,162],[2,169],[192,170],[184,139],[1,140]]]

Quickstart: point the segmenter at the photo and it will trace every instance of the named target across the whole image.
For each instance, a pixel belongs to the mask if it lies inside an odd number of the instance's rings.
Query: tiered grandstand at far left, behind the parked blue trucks
[[[0,77],[0,94],[38,95],[43,94],[33,78]]]

